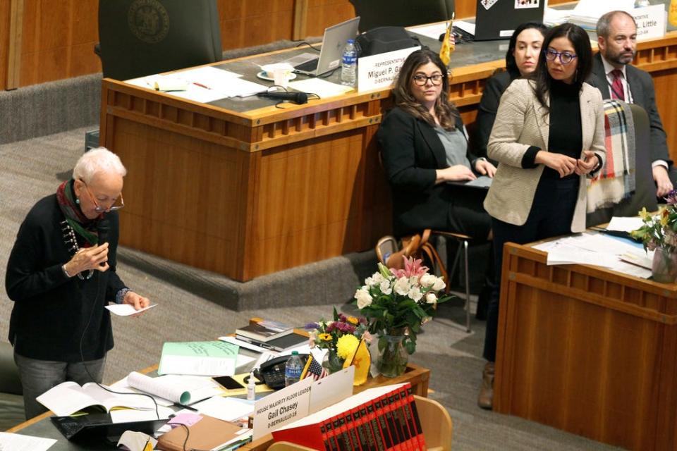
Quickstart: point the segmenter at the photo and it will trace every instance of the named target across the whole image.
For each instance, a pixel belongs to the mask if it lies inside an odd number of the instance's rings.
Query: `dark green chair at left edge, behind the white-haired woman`
[[[25,421],[22,393],[13,347],[0,342],[0,431]]]

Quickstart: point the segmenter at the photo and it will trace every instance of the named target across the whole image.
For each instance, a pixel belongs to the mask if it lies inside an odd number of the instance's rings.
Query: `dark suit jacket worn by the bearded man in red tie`
[[[592,61],[592,75],[590,75],[588,82],[602,92],[602,99],[611,99],[609,82],[606,80],[604,64],[602,64],[602,56],[598,53],[592,58]],[[644,70],[628,64],[626,66],[626,78],[630,87],[630,94],[633,97],[633,103],[642,106],[649,115],[651,161],[663,160],[668,163],[668,166],[672,166],[665,130],[663,129],[661,116],[659,116],[656,107],[656,92],[654,91],[654,81],[651,75]]]

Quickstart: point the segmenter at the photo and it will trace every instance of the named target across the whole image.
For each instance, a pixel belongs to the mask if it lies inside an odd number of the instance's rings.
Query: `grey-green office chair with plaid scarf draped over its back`
[[[637,216],[642,207],[656,211],[656,185],[651,168],[649,149],[649,116],[639,105],[630,104],[635,123],[635,192],[614,206],[597,209],[586,216],[586,225],[597,226],[608,223],[613,216]]]

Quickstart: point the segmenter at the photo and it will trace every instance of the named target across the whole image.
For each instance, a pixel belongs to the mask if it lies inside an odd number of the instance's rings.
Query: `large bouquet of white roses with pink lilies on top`
[[[369,331],[382,335],[379,350],[386,346],[384,335],[403,335],[405,350],[413,354],[422,325],[432,319],[437,304],[451,299],[439,295],[445,287],[444,280],[429,274],[421,260],[409,258],[404,269],[379,263],[379,271],[355,292],[354,302],[369,320]]]

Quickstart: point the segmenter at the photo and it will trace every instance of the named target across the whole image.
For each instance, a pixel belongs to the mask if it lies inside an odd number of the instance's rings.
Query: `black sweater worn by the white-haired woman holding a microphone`
[[[110,314],[104,305],[115,302],[125,288],[115,272],[118,215],[108,220],[108,271],[92,278],[68,278],[61,266],[71,259],[64,242],[64,220],[56,194],[39,200],[19,228],[9,256],[5,287],[14,301],[9,341],[24,357],[57,362],[80,362],[80,338],[85,361],[100,359],[113,347]],[[82,243],[80,243],[82,245]],[[86,274],[87,272],[85,271]]]

